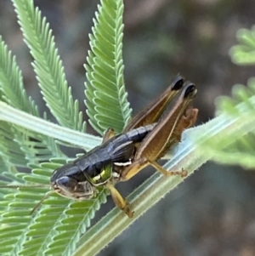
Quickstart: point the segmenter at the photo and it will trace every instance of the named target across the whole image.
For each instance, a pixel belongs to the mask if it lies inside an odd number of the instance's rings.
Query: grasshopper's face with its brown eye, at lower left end
[[[92,186],[88,180],[78,182],[77,179],[68,176],[56,179],[52,186],[54,191],[60,196],[65,196],[70,199],[86,200],[96,194],[94,186]]]

